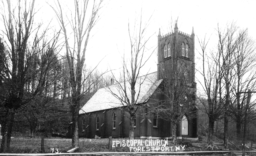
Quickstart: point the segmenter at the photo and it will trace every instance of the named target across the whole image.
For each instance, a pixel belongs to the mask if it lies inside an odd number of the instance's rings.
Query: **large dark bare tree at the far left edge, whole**
[[[22,5],[18,1],[17,7],[11,4],[10,0],[2,1],[2,18],[5,26],[5,35],[8,38],[8,49],[3,65],[5,76],[1,77],[1,88],[5,93],[1,98],[1,107],[5,110],[5,123],[3,125],[3,138],[1,142],[1,152],[6,152],[10,148],[12,125],[14,114],[23,105],[29,103],[37,93],[45,87],[46,75],[52,70],[52,63],[56,58],[48,54],[41,58],[41,67],[33,71],[33,59],[38,53],[44,53],[43,48],[49,45],[50,49],[56,47],[58,36],[53,39],[46,39],[45,31],[40,31],[41,24],[34,24],[34,4],[25,3]],[[29,5],[29,6],[28,6]],[[7,9],[7,10],[5,10]],[[58,35],[58,34],[57,34]],[[35,79],[33,93],[25,91],[25,84]],[[51,83],[51,82],[49,82]]]

